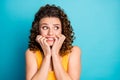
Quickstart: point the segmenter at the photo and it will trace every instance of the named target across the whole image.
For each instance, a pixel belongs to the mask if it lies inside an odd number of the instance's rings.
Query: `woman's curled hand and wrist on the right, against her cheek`
[[[61,49],[61,46],[62,46],[65,38],[66,37],[62,34],[55,37],[55,42],[52,46],[52,54],[59,54],[59,51]]]

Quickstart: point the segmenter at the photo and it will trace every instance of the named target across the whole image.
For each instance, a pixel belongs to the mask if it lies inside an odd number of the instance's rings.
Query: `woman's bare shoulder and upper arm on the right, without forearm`
[[[73,46],[69,55],[68,74],[73,80],[80,79],[81,72],[81,49]]]

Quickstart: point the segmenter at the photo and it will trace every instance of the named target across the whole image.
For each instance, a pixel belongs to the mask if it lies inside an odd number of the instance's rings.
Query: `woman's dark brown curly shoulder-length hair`
[[[60,56],[63,56],[71,51],[72,43],[74,40],[73,28],[68,20],[67,15],[64,13],[64,10],[59,6],[46,4],[42,6],[38,12],[35,14],[34,21],[32,22],[32,29],[30,30],[29,36],[29,49],[32,51],[40,50],[43,52],[39,43],[36,42],[36,36],[40,34],[39,31],[39,21],[45,17],[57,17],[60,19],[62,24],[62,34],[66,37],[63,45],[60,49]]]

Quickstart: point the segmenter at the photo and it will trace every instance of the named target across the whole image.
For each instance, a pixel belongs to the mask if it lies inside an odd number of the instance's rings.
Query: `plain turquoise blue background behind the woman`
[[[34,14],[56,4],[81,47],[81,80],[120,80],[120,0],[0,0],[0,80],[25,80],[25,51]]]

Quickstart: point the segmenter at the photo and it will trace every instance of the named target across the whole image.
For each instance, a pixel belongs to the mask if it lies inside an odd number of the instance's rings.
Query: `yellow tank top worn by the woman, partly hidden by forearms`
[[[36,51],[35,54],[36,54],[36,59],[37,59],[37,66],[38,66],[38,69],[39,69],[40,66],[41,66],[41,63],[42,63],[42,54],[40,53],[40,51]],[[67,72],[67,69],[68,69],[68,54],[64,55],[62,57],[62,66],[63,66],[64,70]],[[48,79],[47,80],[56,80],[54,71],[49,71],[48,72]]]

